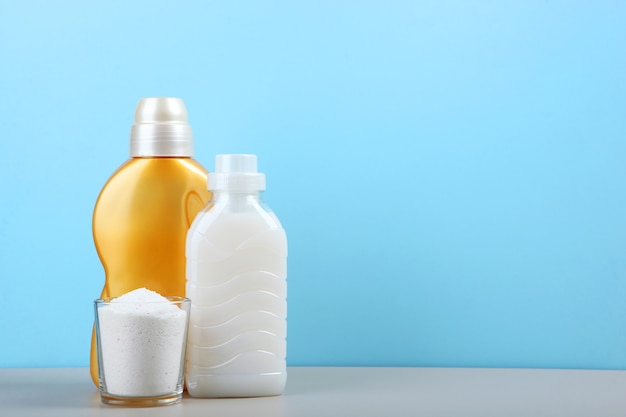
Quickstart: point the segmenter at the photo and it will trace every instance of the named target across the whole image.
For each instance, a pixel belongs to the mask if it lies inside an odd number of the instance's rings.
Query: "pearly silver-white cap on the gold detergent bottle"
[[[193,133],[179,98],[142,98],[130,130],[130,156],[193,156]]]

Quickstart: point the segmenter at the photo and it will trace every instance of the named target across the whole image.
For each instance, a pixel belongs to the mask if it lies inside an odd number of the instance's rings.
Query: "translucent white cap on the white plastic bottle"
[[[256,155],[217,155],[215,172],[210,172],[211,191],[251,192],[265,190],[265,174],[257,171]]]

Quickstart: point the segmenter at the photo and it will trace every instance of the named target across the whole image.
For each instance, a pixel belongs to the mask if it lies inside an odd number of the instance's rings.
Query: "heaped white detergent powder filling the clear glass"
[[[104,382],[109,394],[171,394],[180,381],[186,312],[140,288],[98,311]]]

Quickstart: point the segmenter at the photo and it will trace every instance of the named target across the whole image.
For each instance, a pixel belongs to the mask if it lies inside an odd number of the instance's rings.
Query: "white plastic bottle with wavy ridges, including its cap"
[[[218,155],[213,197],[187,233],[187,391],[259,397],[285,388],[287,238],[260,199],[256,155]]]

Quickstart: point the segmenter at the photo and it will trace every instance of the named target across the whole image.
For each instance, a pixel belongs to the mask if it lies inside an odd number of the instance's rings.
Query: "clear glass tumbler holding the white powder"
[[[94,302],[100,398],[121,406],[182,399],[191,301]]]

